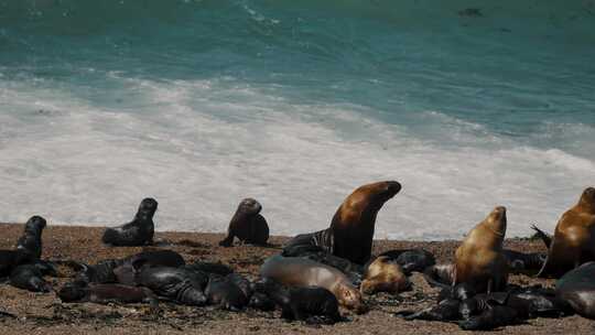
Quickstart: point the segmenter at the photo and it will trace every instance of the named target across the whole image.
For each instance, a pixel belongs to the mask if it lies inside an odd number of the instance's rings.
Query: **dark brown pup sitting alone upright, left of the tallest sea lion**
[[[260,210],[262,210],[262,205],[256,199],[249,197],[242,199],[229,221],[227,237],[219,241],[219,246],[231,247],[235,237],[244,244],[267,245],[269,225],[264,217],[260,215]]]

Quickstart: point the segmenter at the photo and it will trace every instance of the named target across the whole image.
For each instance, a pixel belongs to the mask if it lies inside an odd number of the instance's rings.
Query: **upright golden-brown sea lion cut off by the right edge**
[[[548,259],[538,275],[560,278],[592,260],[595,260],[595,188],[588,187],[558,221]]]

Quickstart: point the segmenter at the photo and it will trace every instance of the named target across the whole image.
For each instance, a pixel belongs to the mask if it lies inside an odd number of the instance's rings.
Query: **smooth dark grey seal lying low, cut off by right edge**
[[[595,262],[571,270],[555,283],[556,298],[569,303],[581,316],[595,320]]]

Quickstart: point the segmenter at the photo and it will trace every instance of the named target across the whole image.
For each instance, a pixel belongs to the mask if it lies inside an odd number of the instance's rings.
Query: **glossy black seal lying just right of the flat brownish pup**
[[[136,282],[151,289],[158,296],[177,303],[203,306],[207,302],[203,291],[208,278],[182,268],[144,268],[137,274]]]

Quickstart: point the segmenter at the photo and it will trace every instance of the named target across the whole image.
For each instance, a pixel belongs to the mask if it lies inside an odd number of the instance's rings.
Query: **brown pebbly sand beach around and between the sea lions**
[[[23,229],[18,224],[0,224],[0,248],[12,248]],[[44,259],[75,259],[95,263],[102,259],[120,258],[147,249],[172,249],[186,262],[220,261],[237,272],[255,278],[262,261],[280,251],[286,237],[272,237],[271,247],[236,246],[221,248],[220,234],[158,233],[156,246],[110,248],[100,242],[102,228],[48,226],[43,234]],[[447,262],[458,241],[393,241],[375,240],[374,252],[390,249],[422,247],[433,252],[439,262]],[[540,241],[508,239],[506,247],[515,250],[545,251]],[[68,278],[48,278],[55,288]],[[54,293],[31,293],[0,285],[0,310],[17,318],[0,317],[0,334],[465,334],[456,324],[403,321],[392,314],[402,310],[419,310],[434,303],[436,290],[419,274],[411,278],[413,290],[400,295],[368,296],[371,311],[355,315],[342,311],[346,322],[334,326],[311,326],[289,323],[280,312],[246,310],[241,313],[219,311],[214,306],[190,307],[160,303],[159,311],[148,305],[99,305],[93,303],[63,304]],[[553,280],[512,275],[520,284],[552,285]],[[595,322],[581,316],[536,318],[524,324],[498,328],[499,334],[593,334]]]

